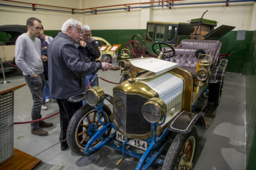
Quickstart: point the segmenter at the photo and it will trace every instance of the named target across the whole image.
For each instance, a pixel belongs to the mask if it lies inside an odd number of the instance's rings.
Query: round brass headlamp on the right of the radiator
[[[166,104],[163,100],[154,97],[147,102],[142,107],[142,115],[147,121],[151,123],[156,123],[163,118],[163,115],[166,115]]]

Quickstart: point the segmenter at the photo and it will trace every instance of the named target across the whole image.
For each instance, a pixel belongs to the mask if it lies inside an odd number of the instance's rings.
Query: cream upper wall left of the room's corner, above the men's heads
[[[73,1],[62,1],[62,0],[22,0],[21,2],[29,2],[35,4],[46,4],[49,6],[62,6],[62,7],[74,7],[80,9],[80,0]],[[27,6],[19,3],[12,3],[1,1],[1,4],[10,4],[12,6]],[[36,6],[40,8],[49,9],[50,7]],[[56,9],[56,8],[51,8]],[[56,9],[56,10],[69,10],[69,9]],[[71,11],[71,10],[69,10]],[[75,20],[81,20],[81,14],[66,13],[66,12],[54,12],[48,10],[35,10],[23,9],[19,7],[6,7],[0,6],[0,25],[26,25],[27,19],[30,17],[36,17],[41,20],[45,30],[61,30],[63,23],[69,18],[74,18]]]

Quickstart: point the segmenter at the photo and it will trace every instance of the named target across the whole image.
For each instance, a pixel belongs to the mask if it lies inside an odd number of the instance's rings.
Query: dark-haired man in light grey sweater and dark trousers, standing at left
[[[45,76],[43,75],[43,62],[47,60],[41,55],[41,41],[36,38],[42,29],[41,21],[37,18],[28,18],[27,33],[17,38],[15,46],[15,62],[22,70],[28,87],[33,96],[32,120],[41,119],[41,105],[43,104],[43,89],[45,87]],[[45,121],[31,123],[32,134],[47,136],[48,132],[41,127],[51,127],[53,123]]]

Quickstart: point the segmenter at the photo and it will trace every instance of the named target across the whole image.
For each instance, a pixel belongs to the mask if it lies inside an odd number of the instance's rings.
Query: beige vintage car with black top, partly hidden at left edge
[[[21,34],[26,32],[27,28],[25,25],[0,26],[0,56],[5,72],[16,70],[17,67],[13,66],[15,65],[15,42]],[[1,69],[0,72],[2,72]]]

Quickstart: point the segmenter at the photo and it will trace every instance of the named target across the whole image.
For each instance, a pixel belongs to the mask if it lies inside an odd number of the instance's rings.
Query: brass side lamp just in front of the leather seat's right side
[[[205,55],[211,57],[211,55],[206,54],[203,49],[198,49],[195,51],[195,57],[198,60],[203,59]],[[211,60],[213,58],[211,57]],[[197,86],[207,86],[208,85],[208,78],[210,78],[210,67],[211,67],[211,60],[202,60],[200,63],[200,69],[197,70],[195,73],[195,77],[197,78]]]

